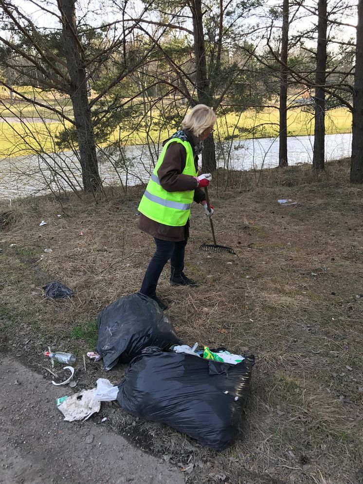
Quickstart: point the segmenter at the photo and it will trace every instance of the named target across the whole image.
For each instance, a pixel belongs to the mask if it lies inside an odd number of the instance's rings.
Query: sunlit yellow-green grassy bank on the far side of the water
[[[72,105],[67,98],[56,99],[52,93],[45,93],[42,98],[40,92],[35,95],[42,103],[64,112],[73,118]],[[44,94],[44,95],[45,95]],[[28,94],[29,95],[29,94]],[[54,96],[54,93],[53,93]],[[0,123],[0,158],[7,156],[31,155],[36,151],[57,151],[54,144],[55,135],[70,122],[61,123],[58,115],[51,110],[35,107],[30,103],[2,99],[0,115],[5,120]],[[26,123],[19,123],[18,118],[25,118]],[[41,119],[44,119],[42,122]],[[150,120],[148,119],[148,122]],[[169,125],[169,122],[167,123]],[[326,133],[350,133],[351,112],[345,108],[330,109],[326,114]],[[151,140],[157,143],[166,139],[171,133],[158,126],[163,125],[160,110],[152,113],[151,129],[146,135],[145,120],[140,120],[138,128],[125,130],[117,128],[109,136],[109,142],[120,141],[122,144],[144,144]],[[265,108],[260,112],[253,109],[244,111],[241,115],[229,113],[218,117],[218,132],[216,139],[246,139],[278,136],[279,114],[278,106]],[[161,129],[161,130],[160,130]],[[174,129],[172,129],[174,131]],[[314,134],[314,116],[311,107],[291,108],[288,111],[288,136],[306,136]]]

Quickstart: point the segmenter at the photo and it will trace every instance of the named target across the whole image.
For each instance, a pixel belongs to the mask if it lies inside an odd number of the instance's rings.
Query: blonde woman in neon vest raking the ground
[[[184,250],[189,237],[190,206],[193,200],[208,210],[204,191],[212,176],[198,176],[198,155],[202,142],[214,131],[216,114],[204,104],[195,106],[182,121],[182,130],[164,141],[163,151],[154,168],[139,205],[139,227],[152,235],[156,244],[140,292],[154,299],[164,310],[167,306],[156,296],[160,274],[170,259],[170,283],[173,286],[197,286],[184,272]]]

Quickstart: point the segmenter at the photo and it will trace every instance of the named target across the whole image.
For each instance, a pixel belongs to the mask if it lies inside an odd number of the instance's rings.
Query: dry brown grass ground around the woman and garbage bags
[[[219,197],[211,190],[216,235],[237,256],[199,251],[211,235],[203,211],[193,208],[185,271],[200,286],[170,287],[165,270],[159,292],[186,342],[256,356],[240,439],[217,454],[117,406],[107,409],[112,427],[141,447],[172,465],[193,462],[190,482],[362,482],[363,190],[348,184],[348,170],[346,161],[331,163],[319,180],[308,166],[266,170],[258,187],[254,173],[236,172],[226,191],[220,171]],[[63,208],[47,197],[11,207],[14,223],[0,243],[9,348],[29,348],[28,361],[43,366],[37,355],[48,344],[91,349],[98,311],[139,289],[154,250],[137,228],[141,193],[134,188],[126,200],[116,191],[98,205],[70,195]],[[280,197],[298,204],[280,207]],[[47,225],[39,227],[42,219]],[[43,298],[42,285],[54,279],[75,291],[72,301]],[[87,374],[82,366],[84,384],[102,375],[97,364]],[[122,372],[108,377],[117,383]]]

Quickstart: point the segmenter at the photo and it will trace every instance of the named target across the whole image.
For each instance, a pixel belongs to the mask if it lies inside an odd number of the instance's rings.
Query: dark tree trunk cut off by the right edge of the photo
[[[363,183],[363,0],[358,1],[350,182]]]

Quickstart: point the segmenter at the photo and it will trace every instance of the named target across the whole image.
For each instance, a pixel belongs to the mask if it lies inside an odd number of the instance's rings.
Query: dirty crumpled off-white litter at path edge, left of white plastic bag
[[[69,396],[62,402],[58,409],[63,413],[64,420],[87,420],[93,413],[99,412],[101,402],[94,399],[95,388],[82,390],[82,392]]]

